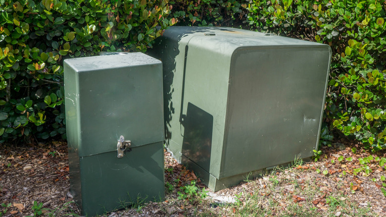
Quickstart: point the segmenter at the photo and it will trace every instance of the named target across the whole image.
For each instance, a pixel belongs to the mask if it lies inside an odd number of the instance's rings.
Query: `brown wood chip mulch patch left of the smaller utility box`
[[[72,201],[66,143],[1,144],[0,156],[0,201],[11,203],[3,217],[31,216],[34,201],[52,211]],[[68,209],[57,211],[78,212],[78,207],[70,203]]]

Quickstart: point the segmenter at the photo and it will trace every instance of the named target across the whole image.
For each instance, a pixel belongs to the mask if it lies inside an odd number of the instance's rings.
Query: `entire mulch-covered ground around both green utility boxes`
[[[373,154],[361,150],[358,145],[344,142],[333,147],[323,147],[323,155],[318,162],[305,163],[296,167],[278,170],[276,173],[252,181],[242,182],[232,188],[216,192],[219,196],[235,197],[241,202],[239,208],[246,206],[248,196],[261,195],[259,206],[262,210],[273,209],[268,199],[278,201],[278,207],[272,212],[281,215],[293,203],[315,209],[321,216],[331,216],[331,197],[338,198],[350,206],[337,207],[337,214],[355,216],[355,209],[369,207],[372,215],[386,216],[386,196],[382,192],[381,176],[386,176],[385,165],[380,166],[377,157],[386,158],[386,153]],[[352,152],[352,148],[357,151]],[[361,159],[373,159],[367,163],[369,173],[354,169],[361,167]],[[343,156],[343,160],[342,157]],[[339,158],[340,157],[340,158]],[[362,162],[363,163],[363,162]],[[320,172],[317,172],[317,171]],[[327,174],[323,174],[327,171]],[[342,175],[343,171],[345,175]],[[358,170],[357,170],[358,171]],[[273,181],[274,180],[274,181]],[[187,202],[179,200],[177,192],[181,186],[195,181],[198,187],[204,187],[193,171],[177,163],[165,151],[165,183],[171,184],[166,189],[165,201],[148,203],[135,209],[125,209],[107,214],[109,217],[129,216],[238,216],[238,207],[213,206],[210,199]],[[294,189],[293,182],[296,182]],[[313,184],[312,184],[313,183]],[[168,187],[168,186],[167,186]],[[302,195],[308,188],[316,193]],[[67,144],[52,141],[38,145],[0,145],[0,207],[3,217],[31,216],[36,211],[35,205],[41,205],[42,215],[78,216],[79,210],[69,193],[69,169]],[[338,194],[338,193],[339,194]],[[283,199],[287,197],[287,199]],[[277,198],[281,198],[278,200]],[[307,202],[308,201],[308,202]],[[347,207],[350,209],[347,210]],[[354,209],[355,208],[355,209]],[[352,209],[352,211],[351,211]],[[339,213],[340,214],[340,213]]]

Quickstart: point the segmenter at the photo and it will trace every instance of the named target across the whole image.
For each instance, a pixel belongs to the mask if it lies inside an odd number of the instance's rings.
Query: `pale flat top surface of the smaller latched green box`
[[[103,58],[100,58],[100,56],[71,58],[65,59],[64,62],[77,72],[161,63],[158,59],[140,52],[103,55]],[[111,65],[111,62],[114,64]]]

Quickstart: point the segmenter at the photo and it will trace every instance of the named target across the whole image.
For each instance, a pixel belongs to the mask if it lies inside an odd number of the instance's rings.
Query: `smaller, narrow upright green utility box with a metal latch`
[[[162,63],[142,53],[64,61],[71,193],[82,215],[164,197]]]

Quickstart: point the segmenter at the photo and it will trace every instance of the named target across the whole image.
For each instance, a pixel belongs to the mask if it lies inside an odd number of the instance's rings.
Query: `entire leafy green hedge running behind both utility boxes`
[[[385,0],[0,2],[1,141],[64,133],[58,107],[63,57],[145,51],[178,20],[329,44],[334,54],[322,142],[331,142],[335,129],[375,151],[386,148]]]

